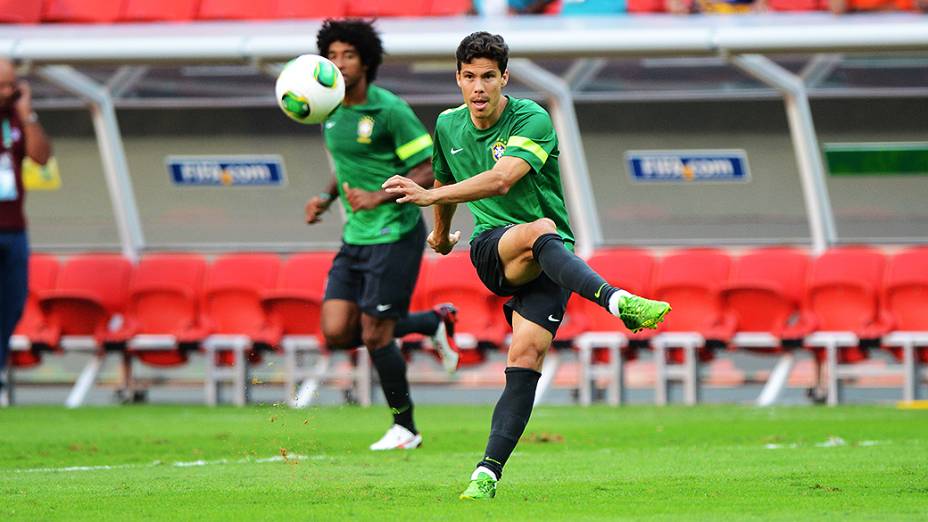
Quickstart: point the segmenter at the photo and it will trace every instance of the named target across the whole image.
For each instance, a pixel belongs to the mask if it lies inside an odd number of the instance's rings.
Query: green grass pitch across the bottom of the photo
[[[383,408],[0,410],[0,520],[928,517],[928,411],[540,408],[462,502],[490,413],[419,407],[425,445],[372,454]]]

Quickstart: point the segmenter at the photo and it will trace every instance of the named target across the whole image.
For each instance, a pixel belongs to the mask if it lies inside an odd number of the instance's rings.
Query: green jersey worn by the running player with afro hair
[[[421,219],[415,205],[384,203],[354,212],[342,185],[370,192],[395,174],[406,174],[432,154],[432,138],[409,105],[376,85],[364,105],[339,107],[322,125],[335,162],[338,193],[348,221],[342,240],[352,245],[393,243]]]

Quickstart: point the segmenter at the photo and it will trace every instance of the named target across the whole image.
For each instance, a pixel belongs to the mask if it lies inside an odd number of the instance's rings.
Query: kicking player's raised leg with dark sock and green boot
[[[584,260],[566,248],[564,240],[558,235],[554,222],[550,219],[542,218],[518,225],[518,228],[520,230],[510,231],[518,234],[513,240],[530,246],[531,258],[552,281],[599,304],[620,318],[625,327],[632,332],[644,328],[657,328],[670,312],[670,304],[667,302],[639,297],[606,282]],[[502,253],[503,240],[500,243]]]

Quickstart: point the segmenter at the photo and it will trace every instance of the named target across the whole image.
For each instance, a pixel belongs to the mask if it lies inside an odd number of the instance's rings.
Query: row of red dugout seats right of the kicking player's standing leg
[[[778,352],[801,345],[814,332],[851,332],[862,345],[842,350],[840,362],[849,363],[865,359],[866,347],[892,331],[928,331],[926,247],[893,256],[844,247],[814,258],[789,248],[762,248],[736,257],[690,249],[659,262],[639,250],[616,249],[598,252],[590,265],[633,293],[672,303],[673,311],[656,332],[632,335],[632,341],[664,332],[696,332],[707,341],[700,351],[704,361],[715,347],[737,346],[739,334],[745,333],[768,334],[777,341],[770,348]],[[616,329],[611,315],[577,296],[568,305],[568,318],[561,339]],[[820,350],[816,353],[820,360],[824,357]],[[679,362],[682,355],[671,356]],[[928,347],[921,348],[919,358],[928,362]]]

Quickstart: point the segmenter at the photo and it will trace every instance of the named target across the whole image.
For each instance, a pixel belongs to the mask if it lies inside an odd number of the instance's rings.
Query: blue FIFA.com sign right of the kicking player
[[[630,150],[628,175],[639,183],[746,183],[751,180],[743,150]]]

